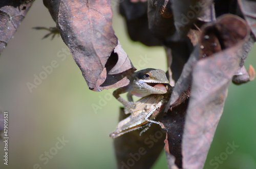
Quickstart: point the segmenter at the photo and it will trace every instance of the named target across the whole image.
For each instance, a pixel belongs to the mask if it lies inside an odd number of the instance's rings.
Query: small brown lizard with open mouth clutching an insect
[[[113,92],[113,96],[123,104],[125,114],[133,114],[133,109],[136,108],[136,104],[133,102],[133,95],[145,97],[151,94],[165,94],[167,90],[163,84],[169,83],[163,70],[153,68],[136,71],[129,80],[129,85],[118,88]],[[126,92],[128,92],[128,101],[120,96],[120,94]]]

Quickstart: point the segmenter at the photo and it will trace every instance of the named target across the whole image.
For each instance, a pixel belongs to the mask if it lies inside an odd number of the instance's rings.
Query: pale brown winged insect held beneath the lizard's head
[[[110,137],[116,138],[124,133],[144,128],[140,134],[146,131],[152,123],[156,123],[165,129],[160,122],[154,121],[157,115],[166,107],[173,87],[166,85],[167,93],[153,94],[145,96],[136,102],[136,108],[126,119],[120,121],[116,130],[110,134]]]

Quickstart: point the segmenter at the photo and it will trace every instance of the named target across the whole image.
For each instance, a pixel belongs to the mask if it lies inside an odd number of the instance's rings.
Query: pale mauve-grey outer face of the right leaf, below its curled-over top
[[[234,69],[236,66],[227,61],[229,53],[222,54],[199,61],[194,68],[193,88],[182,140],[184,168],[203,168],[221,117],[227,96],[227,88],[232,74],[236,70]],[[238,62],[238,60],[236,61]],[[225,66],[227,66],[226,70],[229,74],[223,72],[222,67]],[[223,74],[216,77],[218,75],[214,75],[213,70]]]

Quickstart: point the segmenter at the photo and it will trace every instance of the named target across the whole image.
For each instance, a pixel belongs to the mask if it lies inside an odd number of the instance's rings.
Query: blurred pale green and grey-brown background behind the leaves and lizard
[[[164,49],[132,42],[117,5],[113,2],[113,27],[133,64],[137,69],[166,71]],[[33,30],[35,26],[55,26],[42,1],[32,5],[0,58],[0,107],[9,111],[9,163],[3,164],[1,142],[0,168],[33,168],[36,163],[42,168],[116,168],[109,133],[118,123],[121,104],[110,97],[114,90],[90,91],[71,54],[62,51],[67,46],[61,38],[41,40],[47,32]],[[59,54],[65,54],[66,59]],[[256,46],[245,62],[247,69],[249,64],[256,67],[255,55]],[[141,57],[150,60],[139,64]],[[27,82],[33,83],[34,75],[44,71],[42,66],[54,60],[58,67],[30,92]],[[106,102],[99,102],[102,98]],[[94,110],[93,105],[101,108]],[[241,86],[231,84],[205,168],[256,168],[255,121],[256,80]],[[39,157],[62,137],[69,142],[44,164]],[[226,156],[228,143],[239,147]],[[164,152],[153,168],[167,168]]]

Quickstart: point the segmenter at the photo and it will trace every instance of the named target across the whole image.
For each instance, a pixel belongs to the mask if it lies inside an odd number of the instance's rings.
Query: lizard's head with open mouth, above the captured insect
[[[141,90],[147,90],[152,94],[167,92],[164,84],[169,83],[169,81],[163,70],[147,68],[137,71],[136,76],[135,82]]]

